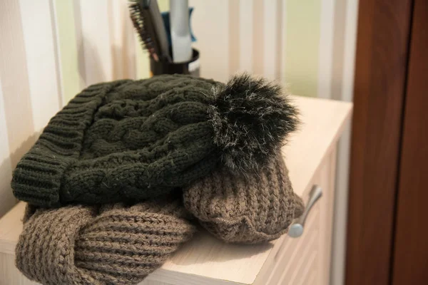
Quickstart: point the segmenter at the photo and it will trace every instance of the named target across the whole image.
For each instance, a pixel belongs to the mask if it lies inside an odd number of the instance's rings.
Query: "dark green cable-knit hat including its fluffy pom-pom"
[[[279,86],[156,76],[86,88],[52,118],[14,170],[21,200],[42,207],[136,201],[220,165],[257,170],[295,129]]]

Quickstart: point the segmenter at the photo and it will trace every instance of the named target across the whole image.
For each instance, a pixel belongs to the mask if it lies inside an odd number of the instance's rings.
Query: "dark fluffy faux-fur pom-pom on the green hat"
[[[247,74],[213,90],[210,122],[222,161],[231,170],[258,170],[297,128],[297,109],[282,89]]]

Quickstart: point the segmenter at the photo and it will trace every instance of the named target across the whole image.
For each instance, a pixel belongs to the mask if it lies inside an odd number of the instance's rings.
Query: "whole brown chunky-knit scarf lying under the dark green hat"
[[[277,239],[304,209],[281,155],[258,175],[215,171],[186,187],[183,202],[27,207],[16,266],[42,284],[138,284],[192,237],[186,209],[215,237],[237,243]]]

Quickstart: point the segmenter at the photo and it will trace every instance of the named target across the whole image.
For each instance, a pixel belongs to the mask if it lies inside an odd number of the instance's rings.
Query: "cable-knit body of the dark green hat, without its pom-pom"
[[[83,90],[14,170],[14,195],[57,207],[141,200],[207,175],[218,164],[207,96],[215,81],[156,76]]]

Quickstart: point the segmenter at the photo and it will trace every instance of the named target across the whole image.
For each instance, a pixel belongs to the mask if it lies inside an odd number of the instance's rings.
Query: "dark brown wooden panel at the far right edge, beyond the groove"
[[[428,284],[428,2],[415,0],[397,199],[392,284]]]

